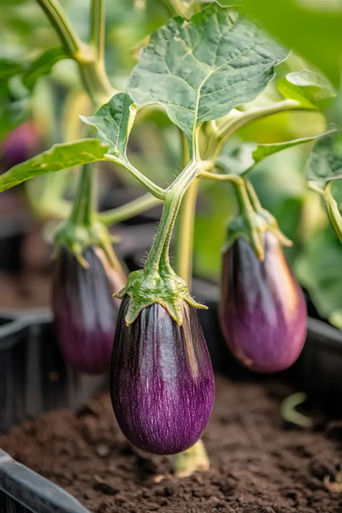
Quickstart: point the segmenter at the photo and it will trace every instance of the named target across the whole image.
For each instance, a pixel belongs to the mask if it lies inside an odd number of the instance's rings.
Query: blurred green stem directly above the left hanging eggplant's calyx
[[[90,164],[85,164],[79,177],[77,192],[70,214],[70,221],[77,225],[91,226],[94,221],[94,173]]]

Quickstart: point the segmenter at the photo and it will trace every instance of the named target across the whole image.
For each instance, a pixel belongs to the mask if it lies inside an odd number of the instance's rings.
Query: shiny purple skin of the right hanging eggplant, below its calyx
[[[265,260],[238,239],[223,257],[219,321],[234,356],[246,367],[277,372],[303,349],[307,309],[276,236],[265,233]]]

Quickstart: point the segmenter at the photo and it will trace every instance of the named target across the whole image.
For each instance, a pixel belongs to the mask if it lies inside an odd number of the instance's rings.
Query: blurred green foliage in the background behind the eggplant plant
[[[139,49],[147,43],[148,35],[174,14],[174,5],[179,2],[182,4],[182,0],[107,2],[106,67],[116,89],[125,88]],[[86,40],[88,2],[63,0],[61,3],[74,28]],[[342,0],[241,0],[239,5],[245,6],[246,14],[272,36],[293,47],[289,59],[276,68],[277,78],[291,71],[318,69],[339,88]],[[183,7],[186,12],[187,3]],[[0,0],[0,11],[0,69],[6,70],[1,62],[8,58],[18,66],[28,66],[43,51],[59,46],[34,0]],[[267,105],[281,99],[274,80],[254,104]],[[87,99],[82,96],[77,66],[70,60],[57,62],[51,74],[39,78],[31,89],[17,77],[8,79],[5,72],[0,73],[0,144],[6,133],[25,119],[33,121],[39,135],[37,151],[56,142],[75,140],[80,135],[77,114],[85,114],[89,109]],[[329,122],[342,124],[340,95],[327,102],[325,109]],[[239,142],[275,143],[314,135],[325,128],[325,117],[318,112],[276,114],[240,130],[224,152],[228,155]],[[180,169],[180,146],[178,130],[165,112],[148,108],[142,123],[133,128],[129,152],[136,167],[157,184],[166,185]],[[342,248],[321,198],[306,185],[310,149],[309,143],[277,153],[259,163],[250,179],[263,206],[275,215],[280,228],[293,240],[294,246],[287,250],[288,258],[319,314],[342,328]],[[4,159],[1,166],[4,171]],[[66,196],[71,195],[76,172],[55,173],[48,175],[49,178],[30,181],[26,188],[31,203],[42,195],[44,180],[54,180],[54,190],[59,187]],[[134,196],[143,192],[125,170],[102,169],[100,191],[122,186],[130,188]],[[338,184],[334,184],[334,192],[341,201],[342,189]],[[194,273],[198,277],[219,281],[225,224],[235,211],[228,183],[201,183],[194,234]]]

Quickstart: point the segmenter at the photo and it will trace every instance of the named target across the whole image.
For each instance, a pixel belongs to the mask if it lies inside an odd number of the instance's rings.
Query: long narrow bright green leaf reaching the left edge
[[[0,192],[14,187],[39,174],[51,173],[69,167],[105,161],[108,145],[98,139],[84,139],[75,143],[55,144],[22,164],[12,167],[0,176]]]

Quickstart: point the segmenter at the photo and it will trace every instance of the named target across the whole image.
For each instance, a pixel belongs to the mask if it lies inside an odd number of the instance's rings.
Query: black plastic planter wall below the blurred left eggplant
[[[42,411],[76,408],[105,381],[67,366],[49,311],[0,314],[0,432]]]

